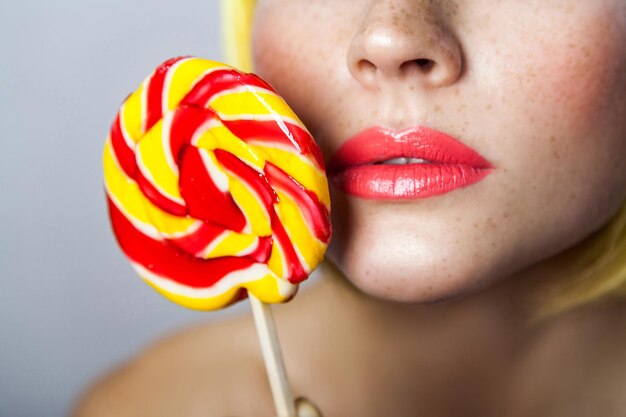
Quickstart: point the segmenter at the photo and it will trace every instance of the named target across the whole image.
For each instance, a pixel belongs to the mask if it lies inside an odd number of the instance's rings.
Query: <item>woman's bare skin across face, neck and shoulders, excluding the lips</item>
[[[624,415],[625,304],[529,324],[525,300],[626,197],[626,2],[261,0],[253,41],[326,158],[420,124],[496,167],[424,200],[331,189],[337,268],[275,308],[295,394],[327,417]],[[273,415],[250,318],[159,342],[76,415]]]

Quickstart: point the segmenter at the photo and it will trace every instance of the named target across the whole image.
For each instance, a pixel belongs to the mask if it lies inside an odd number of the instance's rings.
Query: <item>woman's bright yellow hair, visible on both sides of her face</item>
[[[229,64],[252,70],[255,0],[222,0],[223,40]],[[557,257],[563,269],[529,300],[545,318],[610,296],[626,296],[626,205],[599,232]]]

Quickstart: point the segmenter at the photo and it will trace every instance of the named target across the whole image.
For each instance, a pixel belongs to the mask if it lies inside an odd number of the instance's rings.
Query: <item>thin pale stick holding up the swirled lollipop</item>
[[[274,405],[278,417],[296,417],[296,406],[291,395],[283,355],[276,335],[276,325],[272,316],[272,309],[268,304],[263,303],[254,295],[249,294],[252,305],[252,315],[256,324],[261,351],[265,360],[267,376],[270,380]]]

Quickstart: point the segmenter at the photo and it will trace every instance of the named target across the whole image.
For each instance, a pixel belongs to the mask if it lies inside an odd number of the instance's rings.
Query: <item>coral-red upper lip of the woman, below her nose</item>
[[[394,158],[419,158],[433,164],[493,168],[477,151],[445,133],[415,126],[394,131],[373,126],[343,143],[331,156],[329,172]]]

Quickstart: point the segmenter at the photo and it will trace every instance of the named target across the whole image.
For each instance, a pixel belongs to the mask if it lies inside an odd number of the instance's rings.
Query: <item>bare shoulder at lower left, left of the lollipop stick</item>
[[[270,396],[258,351],[247,318],[179,332],[96,382],[74,415],[271,415],[271,404],[263,410]]]

